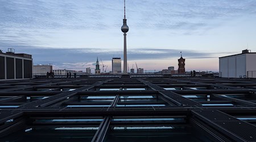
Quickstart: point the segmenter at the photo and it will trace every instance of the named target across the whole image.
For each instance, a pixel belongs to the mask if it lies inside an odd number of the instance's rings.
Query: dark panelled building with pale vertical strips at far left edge
[[[21,80],[32,78],[32,56],[15,53],[12,48],[8,52],[0,51],[0,80]]]

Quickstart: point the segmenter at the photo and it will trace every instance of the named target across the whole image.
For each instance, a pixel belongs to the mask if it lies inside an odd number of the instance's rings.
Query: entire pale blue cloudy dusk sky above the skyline
[[[122,0],[0,0],[0,49],[53,69],[123,59]],[[144,70],[218,71],[218,57],[256,52],[255,0],[126,0],[127,60]],[[102,66],[101,66],[102,68]],[[94,71],[92,70],[94,73]]]

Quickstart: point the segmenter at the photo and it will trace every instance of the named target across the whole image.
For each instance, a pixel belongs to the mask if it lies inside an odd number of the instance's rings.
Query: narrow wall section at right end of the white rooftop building
[[[246,54],[246,75],[256,78],[256,53]]]

